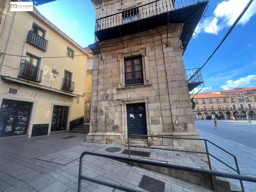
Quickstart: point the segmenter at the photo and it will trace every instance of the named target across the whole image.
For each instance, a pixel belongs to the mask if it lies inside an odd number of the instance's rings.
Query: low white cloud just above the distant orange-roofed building
[[[256,86],[256,75],[248,75],[241,77],[238,80],[228,80],[225,85],[220,86],[224,90],[234,89],[237,87],[252,87]]]

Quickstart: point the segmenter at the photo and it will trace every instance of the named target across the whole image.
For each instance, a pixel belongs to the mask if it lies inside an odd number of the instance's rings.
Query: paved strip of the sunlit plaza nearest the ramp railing
[[[225,138],[216,136],[214,134],[210,134],[208,132],[204,132],[202,130],[198,130],[198,132],[200,133],[201,138],[206,138],[214,142],[218,146],[221,146],[225,150],[234,154],[237,157],[241,174],[256,176],[256,149],[255,148],[245,146],[243,144],[240,144],[231,140],[227,140]],[[222,152],[220,149],[216,148],[211,144],[208,144],[208,147],[209,147],[209,151],[212,154],[214,154],[221,160],[224,160],[224,162],[226,162],[227,164],[235,168],[234,158],[232,158],[232,156]],[[230,168],[222,165],[220,162],[218,162],[214,158],[211,158],[211,162],[214,168],[216,168],[219,171],[232,172]],[[232,172],[232,173],[235,173],[235,172]],[[239,185],[239,182],[236,181],[236,183]],[[246,192],[256,192],[256,183],[244,182],[244,187]]]

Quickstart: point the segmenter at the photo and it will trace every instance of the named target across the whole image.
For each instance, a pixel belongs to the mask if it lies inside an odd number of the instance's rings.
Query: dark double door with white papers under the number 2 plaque
[[[145,103],[128,104],[126,107],[128,135],[147,135]]]

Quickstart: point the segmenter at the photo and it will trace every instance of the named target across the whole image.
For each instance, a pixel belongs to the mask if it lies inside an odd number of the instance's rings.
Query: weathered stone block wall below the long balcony
[[[148,135],[198,137],[192,117],[180,33],[182,24],[99,42],[93,56],[90,134],[87,142],[126,144],[126,104],[146,105]],[[141,42],[141,43],[140,43]],[[144,85],[124,86],[124,58],[142,56]],[[132,95],[135,98],[132,98]],[[157,146],[198,147],[200,141],[149,139]]]

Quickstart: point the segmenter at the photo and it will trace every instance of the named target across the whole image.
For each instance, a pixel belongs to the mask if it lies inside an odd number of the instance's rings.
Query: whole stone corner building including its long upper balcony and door
[[[208,1],[92,0],[96,9],[87,142],[127,144],[129,134],[199,137],[183,54]],[[191,71],[190,71],[190,75]],[[196,82],[197,81],[197,82]],[[191,140],[137,138],[157,146]]]

